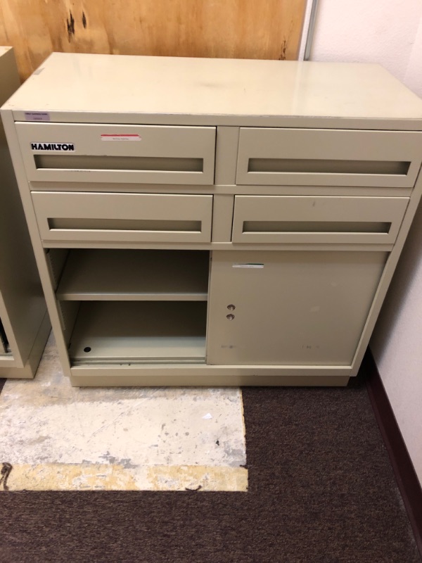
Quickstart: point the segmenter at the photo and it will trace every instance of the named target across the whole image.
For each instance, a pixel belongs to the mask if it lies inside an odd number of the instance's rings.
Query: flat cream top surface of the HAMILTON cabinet
[[[79,53],[53,53],[4,108],[18,120],[49,112],[51,121],[66,112],[83,121],[87,113],[165,114],[169,123],[211,115],[227,125],[280,115],[422,120],[422,101],[380,65]]]

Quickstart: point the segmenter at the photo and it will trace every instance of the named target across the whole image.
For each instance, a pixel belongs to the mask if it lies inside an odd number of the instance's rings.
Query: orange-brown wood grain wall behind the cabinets
[[[52,51],[295,59],[306,0],[0,0],[24,80]]]

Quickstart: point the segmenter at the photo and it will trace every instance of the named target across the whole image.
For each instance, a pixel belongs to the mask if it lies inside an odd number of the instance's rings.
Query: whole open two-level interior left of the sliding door
[[[46,255],[72,365],[205,362],[208,251]]]

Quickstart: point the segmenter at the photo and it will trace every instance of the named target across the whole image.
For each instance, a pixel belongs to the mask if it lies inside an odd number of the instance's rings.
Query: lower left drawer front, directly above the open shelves
[[[43,241],[210,242],[212,196],[32,192]]]

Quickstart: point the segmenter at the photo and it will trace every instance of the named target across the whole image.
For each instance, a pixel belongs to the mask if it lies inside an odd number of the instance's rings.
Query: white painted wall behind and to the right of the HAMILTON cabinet
[[[422,96],[422,1],[320,0],[310,60],[381,63]],[[422,483],[422,206],[371,349]]]

